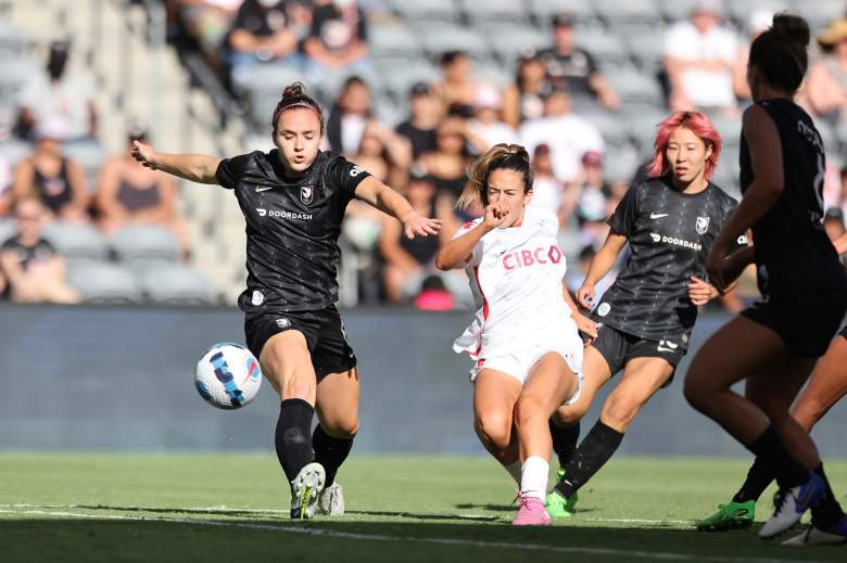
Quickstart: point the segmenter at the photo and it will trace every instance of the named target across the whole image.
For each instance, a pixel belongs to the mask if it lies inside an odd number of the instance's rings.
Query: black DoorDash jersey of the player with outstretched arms
[[[276,149],[220,162],[217,181],[235,190],[246,219],[243,311],[318,310],[338,300],[341,220],[368,176],[330,152],[298,179],[285,177]]]

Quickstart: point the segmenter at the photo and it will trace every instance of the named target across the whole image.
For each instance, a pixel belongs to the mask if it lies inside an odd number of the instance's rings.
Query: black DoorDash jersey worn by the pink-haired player
[[[688,283],[692,276],[706,280],[706,257],[736,206],[713,183],[695,194],[678,192],[659,178],[632,187],[608,221],[629,241],[630,257],[595,319],[642,338],[673,338],[686,346],[697,319]]]

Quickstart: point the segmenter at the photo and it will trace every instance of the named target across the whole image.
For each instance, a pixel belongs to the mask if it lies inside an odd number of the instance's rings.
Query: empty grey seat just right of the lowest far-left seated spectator
[[[79,292],[83,303],[141,303],[141,287],[131,270],[115,264],[89,263],[68,269],[68,283]]]

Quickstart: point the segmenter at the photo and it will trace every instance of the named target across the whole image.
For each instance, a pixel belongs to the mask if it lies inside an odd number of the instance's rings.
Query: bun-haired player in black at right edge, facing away
[[[755,104],[744,112],[742,126],[744,199],[706,266],[722,289],[755,263],[762,300],[700,348],[685,397],[776,478],[773,516],[760,537],[785,532],[811,508],[814,527],[844,541],[847,519],[814,443],[788,411],[847,310],[847,274],[823,229],[823,143],[811,118],[793,102],[806,74],[808,43],[802,18],[778,14],[773,27],[750,46],[747,81]],[[725,258],[731,241],[747,229],[754,247]],[[731,389],[742,380],[745,396]],[[802,537],[789,541],[804,543]]]

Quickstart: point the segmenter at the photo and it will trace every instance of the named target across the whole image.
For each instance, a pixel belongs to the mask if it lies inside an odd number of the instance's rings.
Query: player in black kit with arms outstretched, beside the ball
[[[315,506],[344,512],[336,473],[358,430],[356,357],[336,309],[337,244],[356,197],[400,219],[409,239],[438,233],[399,193],[342,156],[318,149],[324,115],[301,84],[285,89],[273,118],[274,144],[232,158],[164,154],[136,142],[144,166],[233,190],[246,219],[246,290],[239,297],[244,334],[282,399],[276,427],[279,462],[291,483],[291,517]],[[317,411],[319,425],[311,432]]]

